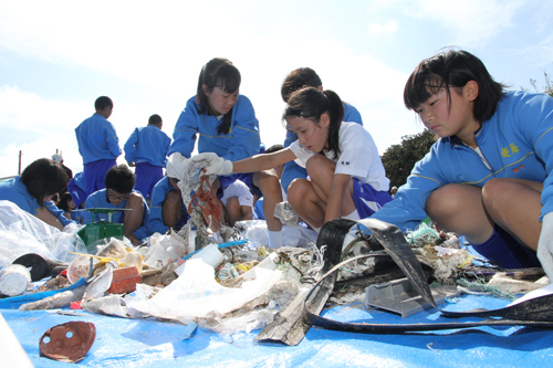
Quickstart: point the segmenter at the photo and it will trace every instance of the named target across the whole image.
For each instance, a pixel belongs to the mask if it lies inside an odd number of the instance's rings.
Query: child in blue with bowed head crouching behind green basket
[[[114,166],[106,172],[105,188],[88,196],[84,208],[122,209],[113,214],[112,221],[123,223],[124,235],[134,245],[139,245],[144,238],[152,234],[146,227],[149,208],[144,197],[133,190],[134,185],[134,174],[126,165]],[[92,213],[86,211],[84,222],[92,220]],[[107,220],[107,214],[97,213],[94,221],[97,220]]]

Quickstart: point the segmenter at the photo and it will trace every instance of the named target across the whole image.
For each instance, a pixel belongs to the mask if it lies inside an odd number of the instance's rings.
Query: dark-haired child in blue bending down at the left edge
[[[63,230],[75,222],[63,215],[52,198],[65,188],[67,181],[60,164],[40,158],[29,165],[21,176],[0,182],[0,200],[9,200],[49,225]]]

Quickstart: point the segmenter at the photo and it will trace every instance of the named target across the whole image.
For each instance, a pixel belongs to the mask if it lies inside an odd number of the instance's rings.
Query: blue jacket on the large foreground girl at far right
[[[542,215],[553,211],[553,98],[524,91],[508,92],[493,116],[474,138],[483,157],[459,138],[440,138],[415,165],[411,175],[373,218],[414,230],[427,217],[428,196],[448,183],[482,188],[491,178],[521,178],[543,182]]]

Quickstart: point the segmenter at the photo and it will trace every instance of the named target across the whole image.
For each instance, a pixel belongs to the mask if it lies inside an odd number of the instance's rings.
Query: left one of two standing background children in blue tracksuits
[[[122,154],[115,128],[107,120],[113,111],[112,99],[101,96],[94,107],[96,113],[75,128],[79,153],[83,157],[86,196],[105,188],[105,174]]]

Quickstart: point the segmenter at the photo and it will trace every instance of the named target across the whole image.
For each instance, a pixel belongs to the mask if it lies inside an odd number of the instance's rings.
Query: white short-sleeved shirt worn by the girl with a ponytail
[[[362,182],[369,183],[375,190],[388,190],[389,180],[386,178],[378,149],[373,136],[359,124],[342,122],[338,132],[338,147],[342,151],[334,159],[334,151],[324,155],[336,162],[334,174],[345,174]],[[298,157],[295,162],[305,167],[307,160],[316,154],[302,145],[300,140],[293,141],[289,148]]]

